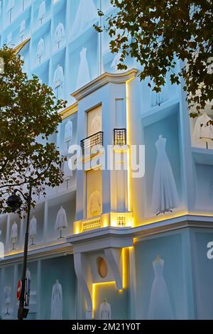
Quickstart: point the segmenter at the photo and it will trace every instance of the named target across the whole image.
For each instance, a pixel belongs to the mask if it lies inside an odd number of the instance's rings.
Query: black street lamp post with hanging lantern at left
[[[26,269],[27,269],[27,261],[28,261],[28,239],[29,239],[29,223],[30,223],[30,215],[31,215],[31,198],[32,198],[32,185],[29,186],[29,193],[28,196],[23,195],[21,190],[16,189],[7,200],[7,205],[11,208],[13,212],[18,210],[21,206],[21,198],[16,195],[16,192],[21,193],[24,200],[26,200],[27,208],[28,208],[28,215],[27,215],[27,222],[26,222],[26,234],[25,234],[25,242],[24,242],[24,249],[23,249],[23,269],[22,269],[22,277],[21,277],[21,297],[19,299],[19,307],[18,307],[18,320],[23,320],[28,315],[28,308],[26,308]]]

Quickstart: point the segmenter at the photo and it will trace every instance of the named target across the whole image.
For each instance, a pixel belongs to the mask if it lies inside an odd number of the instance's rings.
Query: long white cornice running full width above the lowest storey
[[[63,255],[73,254],[73,247],[77,249],[88,243],[99,243],[100,245],[109,242],[125,247],[125,244],[131,242],[131,239],[138,241],[143,237],[150,237],[159,235],[165,232],[180,230],[186,227],[195,227],[199,229],[211,229],[213,233],[213,217],[205,215],[182,215],[180,217],[163,220],[160,222],[153,222],[151,224],[140,225],[138,227],[104,227],[97,230],[80,233],[78,235],[70,235],[67,237],[65,243],[53,244],[40,249],[31,249],[28,252],[28,260],[48,259],[52,257],[60,257]],[[127,246],[126,246],[127,247]],[[11,265],[22,262],[23,252],[11,254],[0,260],[1,265]]]

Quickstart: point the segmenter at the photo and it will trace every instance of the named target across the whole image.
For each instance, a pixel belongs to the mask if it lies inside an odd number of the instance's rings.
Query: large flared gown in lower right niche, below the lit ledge
[[[173,311],[170,303],[168,288],[163,278],[164,260],[159,255],[153,261],[155,278],[151,288],[151,297],[148,307],[148,319],[172,320]]]

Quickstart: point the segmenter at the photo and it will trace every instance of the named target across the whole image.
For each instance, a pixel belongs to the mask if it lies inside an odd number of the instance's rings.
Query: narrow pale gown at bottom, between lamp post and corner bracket
[[[62,320],[62,286],[58,279],[53,285],[50,320]]]

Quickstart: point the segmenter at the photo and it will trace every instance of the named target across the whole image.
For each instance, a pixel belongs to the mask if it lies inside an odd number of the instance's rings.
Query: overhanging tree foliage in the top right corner
[[[189,107],[197,116],[212,101],[212,0],[111,0],[116,12],[105,26],[112,53],[121,52],[119,69],[127,56],[142,65],[141,80],[150,77],[159,92],[170,71],[170,81],[184,79]],[[104,16],[99,11],[99,16]],[[181,60],[175,72],[176,60]]]

